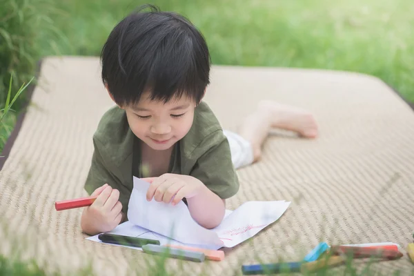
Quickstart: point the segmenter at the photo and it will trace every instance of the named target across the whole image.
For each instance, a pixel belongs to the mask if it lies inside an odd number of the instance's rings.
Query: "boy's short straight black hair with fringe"
[[[152,100],[186,95],[199,103],[210,83],[210,54],[201,32],[185,17],[152,5],[115,26],[102,48],[101,66],[102,81],[120,106],[137,103],[144,92]]]

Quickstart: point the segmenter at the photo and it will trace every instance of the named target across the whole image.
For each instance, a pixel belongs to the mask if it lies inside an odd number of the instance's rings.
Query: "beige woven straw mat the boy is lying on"
[[[99,70],[97,57],[43,60],[0,172],[0,233],[7,235],[1,250],[23,248],[23,257],[68,275],[85,266],[96,275],[130,275],[134,269],[154,275],[159,258],[90,242],[79,227],[80,209],[54,207],[57,200],[86,196],[92,134],[112,106]],[[370,270],[413,273],[405,252],[414,231],[414,112],[408,104],[379,79],[349,72],[213,66],[211,82],[206,102],[224,128],[236,130],[259,100],[273,99],[314,112],[319,138],[275,131],[262,161],[238,170],[241,187],[228,208],[250,200],[292,201],[275,224],[226,250],[223,262],[168,259],[168,272],[241,275],[241,264],[297,261],[325,241],[396,242],[404,257],[375,262]],[[180,266],[184,270],[175,273]],[[366,264],[355,262],[355,268],[362,271]]]

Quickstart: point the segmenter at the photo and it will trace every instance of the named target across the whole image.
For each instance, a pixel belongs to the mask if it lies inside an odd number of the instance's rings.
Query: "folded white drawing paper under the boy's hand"
[[[129,221],[110,233],[159,239],[161,244],[175,243],[211,249],[233,247],[275,222],[290,205],[287,201],[248,201],[234,211],[226,210],[221,224],[210,230],[197,224],[183,201],[176,206],[154,199],[147,201],[149,186],[148,182],[134,177],[128,205]],[[88,239],[100,242],[97,236]]]

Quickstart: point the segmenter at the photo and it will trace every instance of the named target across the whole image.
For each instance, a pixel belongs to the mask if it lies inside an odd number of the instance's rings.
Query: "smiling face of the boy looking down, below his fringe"
[[[139,139],[154,150],[167,150],[190,130],[195,107],[195,101],[184,96],[164,103],[143,95],[137,105],[125,110],[130,128]]]

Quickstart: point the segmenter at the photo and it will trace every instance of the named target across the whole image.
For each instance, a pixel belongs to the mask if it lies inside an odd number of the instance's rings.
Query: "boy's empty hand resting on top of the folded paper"
[[[187,199],[194,197],[203,188],[206,188],[199,179],[188,175],[166,173],[160,177],[149,177],[142,180],[151,184],[146,194],[148,201],[153,197],[155,201],[171,202],[172,205],[179,203],[184,197]]]

